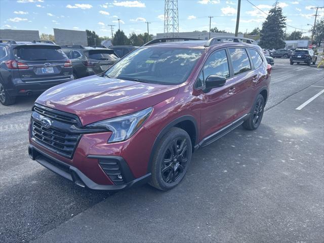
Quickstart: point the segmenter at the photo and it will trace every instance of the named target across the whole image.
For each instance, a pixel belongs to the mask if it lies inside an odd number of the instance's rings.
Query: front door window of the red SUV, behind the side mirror
[[[214,52],[208,57],[203,70],[201,70],[196,80],[195,88],[204,87],[206,78],[210,75],[229,78],[229,68],[225,50]]]

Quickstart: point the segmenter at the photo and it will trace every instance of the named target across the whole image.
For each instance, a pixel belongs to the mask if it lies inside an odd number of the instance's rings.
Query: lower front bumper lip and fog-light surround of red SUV
[[[120,156],[105,156],[105,155],[90,155],[90,158],[100,159],[114,159],[119,161],[119,168],[121,174],[124,177],[124,182],[121,184],[114,185],[102,185],[94,182],[89,177],[87,177],[82,171],[78,170],[76,167],[68,165],[63,161],[43,152],[41,149],[36,148],[33,145],[29,145],[28,154],[32,160],[36,160],[39,164],[46,167],[47,169],[55,172],[56,174],[73,181],[76,185],[80,187],[87,187],[93,190],[108,190],[108,191],[118,191],[123,190],[134,185],[142,185],[149,181],[151,174],[148,173],[140,178],[134,178],[131,171],[128,168],[125,160]]]

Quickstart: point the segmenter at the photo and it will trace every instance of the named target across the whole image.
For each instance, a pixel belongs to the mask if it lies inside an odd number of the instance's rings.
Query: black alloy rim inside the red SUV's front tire
[[[185,137],[174,139],[168,146],[161,163],[161,176],[166,183],[177,181],[188,161],[188,143]]]

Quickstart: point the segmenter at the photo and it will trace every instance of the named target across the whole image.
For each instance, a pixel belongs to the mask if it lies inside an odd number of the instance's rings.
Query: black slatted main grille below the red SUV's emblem
[[[64,157],[72,158],[79,135],[65,133],[55,128],[45,128],[39,121],[33,119],[32,137],[50,150],[54,150]]]

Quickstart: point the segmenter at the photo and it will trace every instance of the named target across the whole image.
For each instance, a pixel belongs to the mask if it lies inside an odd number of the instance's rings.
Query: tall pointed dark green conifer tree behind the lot
[[[270,9],[269,15],[262,24],[259,45],[265,49],[279,49],[285,47],[284,28],[286,27],[286,16],[282,14],[282,8],[278,1]]]

